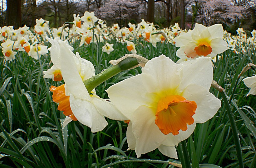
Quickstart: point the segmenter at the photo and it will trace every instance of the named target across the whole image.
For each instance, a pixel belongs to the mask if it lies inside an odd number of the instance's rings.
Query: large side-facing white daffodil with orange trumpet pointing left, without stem
[[[72,120],[78,120],[91,128],[92,132],[103,130],[108,124],[104,116],[115,119],[127,119],[107,99],[96,95],[95,89],[89,94],[83,80],[95,75],[93,64],[80,58],[79,53],[73,54],[66,44],[47,38],[52,44],[52,63],[61,69],[64,85],[51,86],[53,101],[59,103],[58,110],[64,111],[66,117],[63,126]]]

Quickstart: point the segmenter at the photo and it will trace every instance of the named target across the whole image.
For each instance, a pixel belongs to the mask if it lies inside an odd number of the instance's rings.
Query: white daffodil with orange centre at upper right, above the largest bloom
[[[183,59],[194,59],[201,56],[215,57],[229,49],[223,40],[222,24],[205,27],[195,24],[192,31],[174,38],[177,50],[176,55]]]

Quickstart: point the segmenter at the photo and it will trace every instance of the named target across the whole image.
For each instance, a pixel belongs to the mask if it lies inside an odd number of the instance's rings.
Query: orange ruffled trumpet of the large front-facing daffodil
[[[169,133],[178,135],[179,130],[185,131],[188,129],[187,124],[194,123],[192,116],[196,108],[194,101],[186,100],[182,96],[166,96],[158,101],[155,124],[165,135]]]

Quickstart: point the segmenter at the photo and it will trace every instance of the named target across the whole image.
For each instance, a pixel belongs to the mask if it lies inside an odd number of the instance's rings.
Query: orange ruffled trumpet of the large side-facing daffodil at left
[[[61,86],[51,86],[50,91],[53,92],[52,100],[56,103],[59,103],[58,110],[63,111],[63,114],[69,116],[71,119],[76,121],[76,117],[74,116],[69,103],[69,96],[65,94],[65,84]]]

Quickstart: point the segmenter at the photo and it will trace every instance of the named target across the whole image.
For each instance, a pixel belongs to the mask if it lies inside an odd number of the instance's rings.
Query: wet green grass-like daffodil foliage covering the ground
[[[102,42],[90,43],[79,47],[79,41],[73,44],[74,53],[91,61],[95,73],[111,67],[110,60],[129,54],[126,44],[115,40],[108,41],[115,49],[109,55],[102,53]],[[156,48],[144,40],[136,46],[137,54],[151,59],[161,54],[177,61],[176,47],[165,41],[157,43]],[[45,42],[50,47],[50,44]],[[248,63],[255,63],[255,49],[235,54],[227,50],[219,54],[213,63],[214,80],[221,85],[228,96],[233,92],[236,79]],[[26,52],[18,52],[16,59],[5,62],[1,52],[0,61],[0,164],[1,167],[171,167],[170,162],[180,163],[162,155],[158,150],[137,158],[134,151],[127,151],[126,128],[123,121],[107,119],[104,130],[91,133],[90,128],[78,121],[62,128],[65,116],[57,110],[52,101],[51,85],[59,86],[63,82],[54,82],[43,78],[43,72],[52,66],[50,53],[35,60]],[[97,95],[107,98],[105,92],[109,86],[128,77],[141,73],[140,68],[121,72],[96,88]],[[172,72],[170,72],[172,73]],[[249,95],[248,88],[242,82],[255,71],[250,69],[238,80],[234,96],[230,103],[238,128],[243,162],[245,167],[256,165],[256,97]],[[210,92],[222,100],[219,91]],[[229,118],[222,100],[217,114],[204,124],[197,124],[194,133],[186,140],[192,167],[214,164],[221,167],[238,167],[238,158],[231,132]],[[209,166],[209,165],[208,165]],[[217,166],[216,166],[217,167]]]

